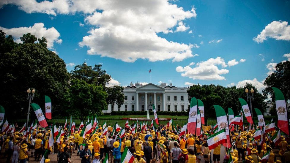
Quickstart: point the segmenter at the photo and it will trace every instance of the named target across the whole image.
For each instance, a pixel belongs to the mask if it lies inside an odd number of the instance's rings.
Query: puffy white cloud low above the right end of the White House
[[[207,61],[201,61],[196,64],[196,67],[191,68],[190,66],[176,67],[177,72],[181,73],[183,77],[189,77],[193,80],[226,80],[223,74],[227,74],[229,71],[227,69],[219,69],[217,65],[222,68],[227,67],[226,62],[223,58],[210,58]]]

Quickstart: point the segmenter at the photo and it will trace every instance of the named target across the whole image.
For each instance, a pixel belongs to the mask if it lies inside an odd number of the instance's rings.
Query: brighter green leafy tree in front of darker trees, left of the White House
[[[82,79],[73,79],[65,97],[65,113],[77,116],[81,121],[88,115],[102,115],[101,110],[108,107],[107,97],[102,84],[89,84]]]

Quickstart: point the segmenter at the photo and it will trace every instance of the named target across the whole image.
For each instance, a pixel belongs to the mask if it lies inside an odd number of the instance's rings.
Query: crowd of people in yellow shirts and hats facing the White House
[[[176,128],[181,130],[181,126]],[[69,134],[70,131],[65,128],[63,131],[66,134],[60,138],[59,143],[54,140],[52,148],[48,147],[51,130],[37,128],[29,134],[28,138],[23,137],[23,133],[18,131],[1,133],[0,145],[5,148],[3,155],[7,157],[7,163],[10,163],[10,160],[12,163],[17,163],[18,160],[20,163],[26,163],[28,159],[40,161],[47,149],[49,154],[55,155],[46,156],[46,162],[49,162],[49,157],[56,156],[59,163],[72,163],[73,153],[80,157],[81,163],[103,162],[106,156],[110,163],[120,163],[125,149],[130,151],[137,163],[200,163],[201,160],[219,163],[221,158],[228,160],[229,156],[233,162],[243,160],[259,163],[267,151],[270,151],[269,163],[290,162],[290,145],[285,141],[285,137],[281,136],[281,142],[277,146],[270,140],[275,130],[267,133],[264,144],[259,144],[259,140],[253,139],[256,131],[254,129],[245,127],[243,131],[231,132],[231,143],[234,141],[235,143],[230,153],[227,153],[226,147],[221,148],[221,145],[209,150],[207,139],[209,134],[213,134],[213,129],[205,131],[202,136],[189,133],[179,135],[163,125],[158,126],[156,130],[157,133],[152,128],[146,131],[138,129],[132,134],[132,131],[126,129],[125,136],[121,138],[118,133],[111,133],[111,131],[103,135],[102,126],[99,125],[95,133],[86,134],[83,138],[80,136],[81,129]],[[236,139],[239,133],[240,137]],[[247,148],[250,151],[247,151]],[[277,148],[278,156],[272,151]],[[221,152],[221,149],[225,151]],[[221,153],[226,154],[221,155]]]

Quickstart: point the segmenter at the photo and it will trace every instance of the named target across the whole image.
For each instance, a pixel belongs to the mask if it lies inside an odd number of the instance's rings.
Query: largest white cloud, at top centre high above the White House
[[[182,31],[182,20],[195,18],[196,12],[164,0],[105,1],[85,21],[97,28],[79,42],[87,46],[88,54],[111,57],[125,62],[138,58],[149,61],[182,61],[193,57],[192,45],[168,41],[157,33],[169,33],[177,25]],[[184,25],[184,24],[183,24]]]

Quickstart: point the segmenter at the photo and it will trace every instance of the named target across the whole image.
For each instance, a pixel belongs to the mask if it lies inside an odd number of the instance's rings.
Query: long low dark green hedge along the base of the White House
[[[147,111],[112,111],[111,115],[147,115]],[[153,115],[153,111],[149,111]],[[157,111],[157,115],[188,115],[187,112]]]

